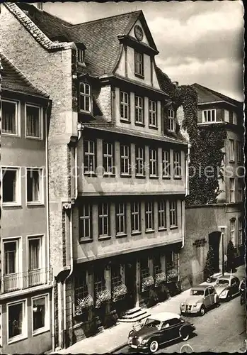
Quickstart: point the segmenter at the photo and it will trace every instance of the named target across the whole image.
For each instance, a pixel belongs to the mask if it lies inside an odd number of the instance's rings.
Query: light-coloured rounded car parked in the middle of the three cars
[[[212,285],[198,285],[190,290],[190,297],[180,303],[181,314],[198,313],[205,315],[213,305],[219,306],[219,297]]]

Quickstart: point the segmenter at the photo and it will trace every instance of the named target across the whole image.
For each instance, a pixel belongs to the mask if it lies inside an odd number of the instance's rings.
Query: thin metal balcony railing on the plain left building
[[[47,268],[27,271],[25,273],[11,273],[1,277],[1,293],[23,290],[38,285],[45,285],[50,278]]]

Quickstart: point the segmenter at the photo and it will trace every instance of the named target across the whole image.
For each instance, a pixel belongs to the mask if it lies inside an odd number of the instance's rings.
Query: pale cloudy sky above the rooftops
[[[67,1],[47,2],[43,9],[71,23],[142,10],[159,50],[156,64],[171,80],[243,101],[241,1]]]

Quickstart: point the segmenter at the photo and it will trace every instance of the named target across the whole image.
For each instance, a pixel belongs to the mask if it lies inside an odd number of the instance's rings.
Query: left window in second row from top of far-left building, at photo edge
[[[4,204],[17,204],[20,200],[20,174],[18,168],[2,168],[2,201]]]

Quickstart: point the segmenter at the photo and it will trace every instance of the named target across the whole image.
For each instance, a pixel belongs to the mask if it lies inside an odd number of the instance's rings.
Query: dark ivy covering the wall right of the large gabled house
[[[223,179],[222,160],[226,129],[224,124],[198,129],[197,92],[190,85],[176,86],[171,79],[156,67],[161,89],[171,97],[173,108],[183,107],[182,129],[190,138],[190,195],[187,206],[217,202],[220,193],[219,179]]]

